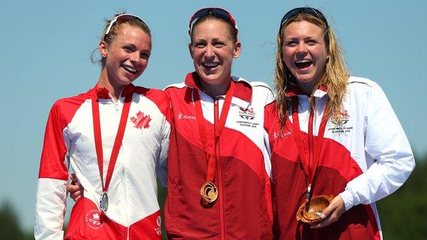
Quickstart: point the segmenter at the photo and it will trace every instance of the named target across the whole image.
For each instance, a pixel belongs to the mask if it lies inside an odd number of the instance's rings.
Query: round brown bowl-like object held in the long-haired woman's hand
[[[323,219],[320,217],[333,200],[332,195],[319,195],[301,204],[296,212],[296,219],[306,224],[316,224]]]

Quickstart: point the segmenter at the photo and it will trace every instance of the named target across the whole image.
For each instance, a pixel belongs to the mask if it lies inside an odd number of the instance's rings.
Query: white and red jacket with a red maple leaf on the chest
[[[125,135],[107,189],[109,206],[99,211],[102,192],[94,144],[92,100],[99,97],[103,176],[116,137],[125,95],[132,94]],[[156,172],[166,182],[170,102],[160,90],[127,85],[117,102],[105,88],[57,101],[49,114],[36,203],[36,239],[64,239],[68,166],[84,188],[73,206],[65,239],[161,239]]]

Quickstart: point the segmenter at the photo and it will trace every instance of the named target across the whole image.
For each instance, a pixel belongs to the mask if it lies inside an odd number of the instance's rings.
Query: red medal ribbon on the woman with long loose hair
[[[311,110],[311,114],[313,114],[313,110]],[[310,116],[310,118],[313,118],[313,116]],[[309,122],[310,121],[312,121],[312,119],[310,119]],[[320,122],[318,139],[314,146],[314,155],[312,155],[311,151],[313,150],[310,149],[311,147],[309,146],[310,157],[309,157],[309,160],[307,161],[307,158],[305,157],[304,143],[302,142],[300,120],[298,118],[298,97],[297,96],[294,97],[292,101],[292,129],[294,130],[294,137],[296,141],[296,146],[298,148],[298,153],[300,155],[302,168],[304,169],[304,172],[305,172],[305,179],[307,182],[307,197],[306,197],[307,201],[310,200],[311,198],[311,184],[313,183],[315,172],[319,164],[320,149],[322,148],[324,131],[326,129],[326,122],[328,122],[328,111],[327,111],[327,108],[325,107],[322,120]],[[313,128],[312,125],[313,124],[309,124],[309,128]],[[313,129],[309,129],[309,134],[310,134],[310,131],[312,132]]]

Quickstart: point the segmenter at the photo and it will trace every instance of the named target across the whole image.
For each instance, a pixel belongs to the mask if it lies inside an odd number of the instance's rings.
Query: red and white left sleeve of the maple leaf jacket
[[[36,196],[35,239],[64,239],[68,155],[60,107],[53,105],[47,120]]]

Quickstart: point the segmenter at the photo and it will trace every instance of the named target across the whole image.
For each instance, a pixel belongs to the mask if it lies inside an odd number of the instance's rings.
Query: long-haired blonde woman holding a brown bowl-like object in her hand
[[[274,83],[274,237],[382,239],[375,201],[406,181],[413,153],[383,90],[349,76],[319,10],[283,17]]]

